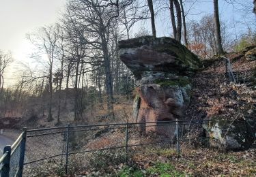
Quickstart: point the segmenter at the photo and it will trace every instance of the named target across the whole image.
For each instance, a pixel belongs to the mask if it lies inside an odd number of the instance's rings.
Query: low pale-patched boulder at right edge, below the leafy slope
[[[214,119],[203,125],[210,135],[210,145],[223,150],[246,150],[255,141],[255,125],[249,120]]]

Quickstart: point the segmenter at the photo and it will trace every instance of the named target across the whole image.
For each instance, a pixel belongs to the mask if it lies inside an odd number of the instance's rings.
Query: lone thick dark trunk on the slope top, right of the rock
[[[220,18],[218,14],[218,0],[214,0],[214,28],[215,28],[215,35],[216,35],[216,43],[217,43],[217,51],[218,54],[224,54],[223,46],[221,42],[221,25],[220,25]]]

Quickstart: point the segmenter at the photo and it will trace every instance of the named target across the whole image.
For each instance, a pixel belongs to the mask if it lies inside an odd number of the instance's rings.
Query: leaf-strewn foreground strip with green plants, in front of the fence
[[[150,149],[147,149],[150,150]],[[121,163],[81,176],[256,176],[256,149],[242,152],[218,152],[208,148],[186,148],[181,155],[175,150],[134,157],[128,165]]]

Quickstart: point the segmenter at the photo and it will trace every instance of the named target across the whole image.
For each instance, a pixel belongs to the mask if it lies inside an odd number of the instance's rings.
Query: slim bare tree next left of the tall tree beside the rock
[[[79,90],[79,84],[81,82],[82,75],[82,89],[84,78],[84,60],[85,50],[87,46],[87,39],[85,37],[85,31],[79,27],[79,24],[72,18],[70,12],[65,16],[65,22],[63,23],[66,31],[66,40],[68,42],[70,57],[68,57],[68,76],[66,82],[66,93],[68,93],[68,82],[70,75],[74,70],[74,120],[81,120],[83,117],[83,91]],[[79,95],[81,94],[82,97]],[[67,95],[66,95],[67,97]],[[65,101],[66,102],[66,101]],[[66,103],[65,103],[66,104]]]

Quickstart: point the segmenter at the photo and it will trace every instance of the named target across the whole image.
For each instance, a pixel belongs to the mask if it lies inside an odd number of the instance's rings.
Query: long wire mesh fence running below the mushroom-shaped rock
[[[66,126],[27,131],[25,176],[75,174],[129,163],[162,148],[180,153],[198,141],[205,120]],[[191,133],[193,132],[193,133]],[[205,139],[206,137],[204,137]]]

